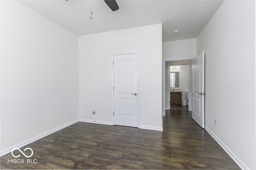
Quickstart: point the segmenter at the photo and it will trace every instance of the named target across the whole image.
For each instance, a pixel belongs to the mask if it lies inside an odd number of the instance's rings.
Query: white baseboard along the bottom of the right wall
[[[227,152],[227,154],[238,164],[242,170],[248,170],[249,168],[242,162],[229,148],[226,146],[206,125],[204,125],[205,130],[218,142],[218,144]]]

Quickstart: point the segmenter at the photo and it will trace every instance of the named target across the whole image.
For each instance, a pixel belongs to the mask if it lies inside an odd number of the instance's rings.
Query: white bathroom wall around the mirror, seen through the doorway
[[[171,61],[166,62],[167,65],[169,63],[172,63]],[[172,65],[172,64],[170,64]],[[188,73],[189,73],[189,65],[179,65],[179,68],[176,69],[170,69],[170,72],[179,72],[179,87],[174,87],[170,89],[180,89],[182,91],[182,100],[187,100],[185,91],[188,91],[188,84],[189,84],[189,79],[188,79]]]

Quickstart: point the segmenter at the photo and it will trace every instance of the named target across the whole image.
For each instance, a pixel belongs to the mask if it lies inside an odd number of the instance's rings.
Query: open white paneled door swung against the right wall
[[[192,59],[192,119],[204,128],[204,52]]]

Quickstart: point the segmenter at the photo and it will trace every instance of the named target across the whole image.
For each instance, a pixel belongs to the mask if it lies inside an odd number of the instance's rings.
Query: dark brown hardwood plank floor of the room
[[[79,122],[22,147],[34,155],[16,159],[36,164],[8,163],[9,153],[0,169],[240,169],[187,110],[163,121],[163,132]]]

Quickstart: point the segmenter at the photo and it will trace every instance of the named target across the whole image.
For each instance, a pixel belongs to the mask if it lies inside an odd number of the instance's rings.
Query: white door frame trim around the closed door
[[[138,55],[138,128],[140,128],[140,51],[122,51],[115,52],[111,55],[111,77],[112,77],[112,85],[111,85],[111,102],[112,102],[112,125],[114,125],[114,55],[125,55],[125,54],[137,54]]]

